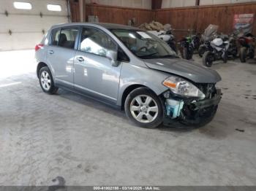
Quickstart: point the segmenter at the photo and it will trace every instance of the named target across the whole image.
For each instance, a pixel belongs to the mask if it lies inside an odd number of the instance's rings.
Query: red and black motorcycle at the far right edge
[[[255,58],[255,36],[252,34],[246,34],[245,36],[240,36],[238,42],[241,44],[239,51],[239,58],[241,63],[246,62],[246,58]]]

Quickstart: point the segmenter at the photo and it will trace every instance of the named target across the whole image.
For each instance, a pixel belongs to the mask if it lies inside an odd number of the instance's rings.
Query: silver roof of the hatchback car
[[[64,24],[55,25],[53,26],[53,28],[66,27],[66,26],[101,26],[107,29],[127,29],[127,30],[139,29],[132,26],[124,26],[124,25],[113,24],[113,23],[64,23]]]

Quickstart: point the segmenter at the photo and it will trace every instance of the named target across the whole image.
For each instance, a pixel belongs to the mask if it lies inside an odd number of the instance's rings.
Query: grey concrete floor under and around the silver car
[[[181,130],[137,128],[89,98],[42,93],[33,56],[0,52],[1,185],[256,184],[256,61],[214,65],[217,116]]]

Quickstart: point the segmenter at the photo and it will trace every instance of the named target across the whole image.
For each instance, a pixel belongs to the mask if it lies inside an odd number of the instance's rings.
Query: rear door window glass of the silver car
[[[52,34],[52,45],[74,49],[75,39],[78,36],[78,28],[56,29]]]

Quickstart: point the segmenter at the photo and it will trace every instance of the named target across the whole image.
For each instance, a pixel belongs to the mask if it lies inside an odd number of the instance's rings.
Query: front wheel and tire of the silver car
[[[147,87],[129,93],[124,109],[129,120],[142,128],[157,128],[163,120],[162,102]]]

